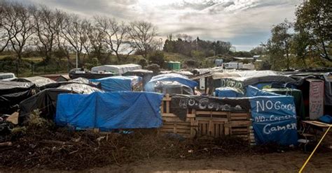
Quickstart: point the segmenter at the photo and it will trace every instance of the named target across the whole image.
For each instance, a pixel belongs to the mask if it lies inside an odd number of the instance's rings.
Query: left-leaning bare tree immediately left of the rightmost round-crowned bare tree
[[[123,53],[124,59],[127,59],[130,53],[134,51],[130,46],[129,28],[124,22],[117,22],[109,17],[95,17],[96,27],[104,31],[104,42],[116,54],[118,61],[121,61]]]

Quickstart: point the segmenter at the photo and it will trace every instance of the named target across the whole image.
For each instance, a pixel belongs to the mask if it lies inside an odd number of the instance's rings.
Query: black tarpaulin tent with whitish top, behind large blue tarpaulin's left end
[[[57,95],[60,93],[92,93],[95,91],[102,92],[102,90],[86,84],[66,84],[55,89],[44,89],[20,103],[20,122],[36,109],[41,111],[41,116],[53,119]]]

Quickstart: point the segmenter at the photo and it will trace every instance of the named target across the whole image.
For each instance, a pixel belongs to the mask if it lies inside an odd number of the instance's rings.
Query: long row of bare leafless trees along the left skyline
[[[15,52],[18,63],[25,52],[35,50],[43,62],[67,59],[75,53],[79,66],[82,56],[108,63],[111,54],[118,62],[135,52],[145,59],[156,50],[157,28],[144,21],[121,22],[111,17],[79,17],[46,6],[25,6],[0,2],[0,52]]]

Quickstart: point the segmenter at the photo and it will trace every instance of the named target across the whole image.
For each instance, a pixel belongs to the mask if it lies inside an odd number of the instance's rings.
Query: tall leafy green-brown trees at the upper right
[[[332,62],[332,2],[328,0],[303,1],[296,8],[296,20],[277,24],[272,36],[262,43],[263,52],[273,69],[290,70],[293,59],[303,68]],[[316,61],[316,62],[315,62]]]

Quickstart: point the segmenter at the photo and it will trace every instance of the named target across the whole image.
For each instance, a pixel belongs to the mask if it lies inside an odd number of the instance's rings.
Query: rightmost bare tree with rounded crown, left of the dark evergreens
[[[157,36],[156,27],[150,22],[131,22],[130,23],[130,39],[132,47],[141,54],[145,59],[148,57],[148,52],[155,47],[153,38]]]

